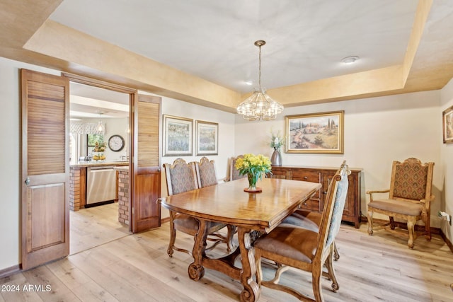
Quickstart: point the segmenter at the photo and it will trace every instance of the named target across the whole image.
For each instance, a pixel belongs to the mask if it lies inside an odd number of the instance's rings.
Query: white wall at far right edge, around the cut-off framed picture
[[[442,111],[453,106],[453,79],[440,91],[440,103],[438,116],[442,117]],[[438,124],[438,127],[442,127],[442,120]],[[444,177],[441,180],[444,190],[442,193],[442,202],[440,202],[440,210],[453,215],[453,144],[441,145],[440,158],[440,164],[444,170]],[[441,222],[442,231],[449,238],[450,242],[453,242],[453,227],[447,221]]]

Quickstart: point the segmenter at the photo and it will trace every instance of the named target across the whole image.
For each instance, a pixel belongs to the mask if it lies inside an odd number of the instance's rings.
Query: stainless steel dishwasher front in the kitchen
[[[86,204],[115,200],[116,170],[113,167],[88,167],[86,172]]]

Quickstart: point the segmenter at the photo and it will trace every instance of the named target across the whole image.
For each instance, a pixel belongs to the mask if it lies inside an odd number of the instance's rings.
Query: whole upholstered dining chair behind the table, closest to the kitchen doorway
[[[167,182],[168,196],[173,194],[179,194],[190,190],[198,189],[197,173],[195,170],[195,163],[185,163],[183,158],[177,158],[173,164],[164,163],[164,170]],[[176,241],[176,230],[186,233],[191,236],[195,236],[200,227],[200,221],[185,214],[176,213],[175,211],[170,212],[170,243],[168,243],[167,253],[168,256],[173,256],[173,250],[179,252],[186,252],[192,255],[192,252],[183,248],[175,246]],[[221,228],[226,226],[224,223],[210,222],[208,226],[208,234],[214,234]],[[208,238],[208,240],[214,241],[206,250],[214,248],[218,243],[227,243],[226,238]],[[229,246],[229,243],[227,243]]]

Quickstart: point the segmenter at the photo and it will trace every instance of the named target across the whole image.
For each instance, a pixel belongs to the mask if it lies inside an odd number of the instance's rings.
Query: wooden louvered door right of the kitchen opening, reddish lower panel
[[[161,226],[159,117],[161,98],[138,95],[134,101],[134,180],[132,232]]]

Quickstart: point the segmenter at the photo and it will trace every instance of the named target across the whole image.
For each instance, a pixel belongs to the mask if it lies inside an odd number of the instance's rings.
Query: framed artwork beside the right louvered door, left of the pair
[[[164,156],[192,155],[193,120],[164,115]]]

